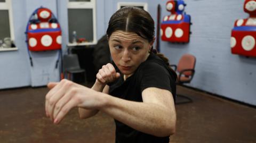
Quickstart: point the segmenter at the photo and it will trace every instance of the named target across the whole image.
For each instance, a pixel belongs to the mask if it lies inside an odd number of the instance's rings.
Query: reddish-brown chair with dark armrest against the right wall
[[[196,57],[191,54],[182,55],[178,65],[170,65],[174,67],[174,70],[178,74],[177,85],[183,85],[183,83],[190,83],[195,74]],[[193,102],[187,96],[177,94],[176,104]]]

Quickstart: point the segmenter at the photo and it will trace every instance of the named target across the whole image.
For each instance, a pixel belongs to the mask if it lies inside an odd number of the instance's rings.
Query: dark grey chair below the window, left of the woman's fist
[[[68,74],[68,79],[73,80],[70,76],[70,74],[74,73],[84,73],[85,82],[86,82],[86,76],[85,76],[85,70],[80,68],[78,57],[76,54],[69,54],[69,55],[63,55],[63,71],[64,71],[64,77],[66,77],[66,74]]]

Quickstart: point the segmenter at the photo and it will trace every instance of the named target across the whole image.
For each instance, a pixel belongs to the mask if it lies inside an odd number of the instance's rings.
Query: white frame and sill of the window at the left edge
[[[10,38],[12,41],[15,40],[14,38],[14,27],[13,27],[13,16],[12,16],[12,1],[5,0],[5,2],[0,2],[0,10],[7,10],[9,14],[9,26],[10,26]],[[11,48],[1,48],[0,51],[17,51],[17,47]]]

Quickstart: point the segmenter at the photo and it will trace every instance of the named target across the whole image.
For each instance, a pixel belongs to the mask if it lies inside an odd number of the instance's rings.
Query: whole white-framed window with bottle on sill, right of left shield
[[[68,37],[69,46],[97,43],[95,0],[69,0]],[[76,43],[78,39],[81,41]]]

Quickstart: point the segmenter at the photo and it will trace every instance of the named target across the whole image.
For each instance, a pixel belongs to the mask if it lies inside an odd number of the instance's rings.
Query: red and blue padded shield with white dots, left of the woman
[[[30,16],[27,29],[29,51],[61,49],[61,28],[52,11],[44,7],[36,9]]]

